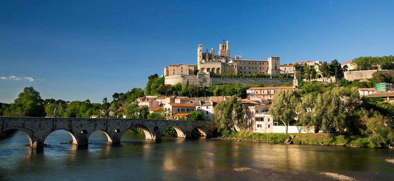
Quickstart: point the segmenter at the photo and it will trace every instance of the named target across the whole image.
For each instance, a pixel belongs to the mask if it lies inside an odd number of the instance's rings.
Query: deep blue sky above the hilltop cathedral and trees
[[[331,5],[330,5],[331,3]],[[294,61],[394,54],[394,1],[0,1],[0,102],[112,100],[197,45]],[[12,77],[15,76],[15,77]],[[32,78],[32,79],[30,79]],[[18,80],[20,79],[20,80]]]

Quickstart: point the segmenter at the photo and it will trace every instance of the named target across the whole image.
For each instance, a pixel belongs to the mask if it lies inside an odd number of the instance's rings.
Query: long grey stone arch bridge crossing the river
[[[103,131],[110,143],[119,143],[122,135],[132,127],[139,127],[145,139],[160,140],[162,131],[173,127],[178,137],[191,137],[191,131],[198,129],[203,136],[212,136],[217,128],[214,121],[178,121],[156,119],[122,118],[30,118],[0,117],[0,133],[7,130],[22,130],[30,139],[30,147],[43,148],[45,138],[56,130],[66,130],[71,134],[73,144],[87,145],[89,136]]]

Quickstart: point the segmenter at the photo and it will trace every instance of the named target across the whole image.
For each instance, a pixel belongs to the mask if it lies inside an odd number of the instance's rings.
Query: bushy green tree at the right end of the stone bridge
[[[235,95],[231,96],[230,100],[221,101],[215,107],[215,120],[220,130],[235,130],[234,126],[244,129],[246,127],[244,115],[242,101],[238,101]]]

